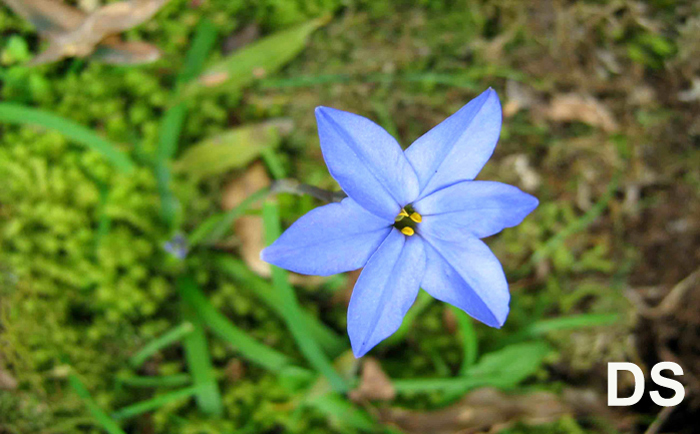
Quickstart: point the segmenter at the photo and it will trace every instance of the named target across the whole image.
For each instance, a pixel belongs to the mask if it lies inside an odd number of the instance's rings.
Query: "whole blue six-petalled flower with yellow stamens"
[[[300,218],[262,259],[322,276],[364,267],[348,307],[356,357],[399,328],[421,287],[501,327],[508,282],[480,238],[519,224],[538,201],[510,185],[474,181],[501,130],[496,92],[488,89],[405,152],[361,116],[318,107],[316,119],[326,165],[348,197]]]

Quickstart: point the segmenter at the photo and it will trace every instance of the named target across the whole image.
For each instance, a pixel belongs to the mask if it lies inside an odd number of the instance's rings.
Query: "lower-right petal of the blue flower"
[[[426,238],[427,266],[421,287],[491,327],[508,316],[510,293],[500,262],[478,238]]]

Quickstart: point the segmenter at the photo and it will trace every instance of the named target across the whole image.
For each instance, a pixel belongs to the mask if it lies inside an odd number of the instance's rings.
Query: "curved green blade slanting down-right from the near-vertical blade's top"
[[[181,279],[180,296],[197,312],[200,320],[221,339],[231,344],[243,357],[273,372],[291,366],[291,360],[282,353],[267,347],[233,325],[209,303],[192,278]]]

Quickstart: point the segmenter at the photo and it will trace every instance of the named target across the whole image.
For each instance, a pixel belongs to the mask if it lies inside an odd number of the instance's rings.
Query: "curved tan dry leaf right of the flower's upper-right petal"
[[[584,122],[606,132],[614,132],[618,129],[618,124],[610,110],[590,95],[576,93],[556,95],[546,109],[545,115],[553,121]]]

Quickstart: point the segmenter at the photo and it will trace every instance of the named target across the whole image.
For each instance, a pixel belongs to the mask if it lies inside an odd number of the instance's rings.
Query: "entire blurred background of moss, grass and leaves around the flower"
[[[45,43],[0,6],[0,432],[642,432],[659,408],[605,408],[606,362],[700,392],[697,2],[172,0],[124,36],[161,59],[28,67]],[[487,240],[510,318],[422,294],[355,361],[357,274],[258,259],[320,203],[259,199],[337,189],[317,105],[406,146],[489,86],[479,178],[541,202]]]

